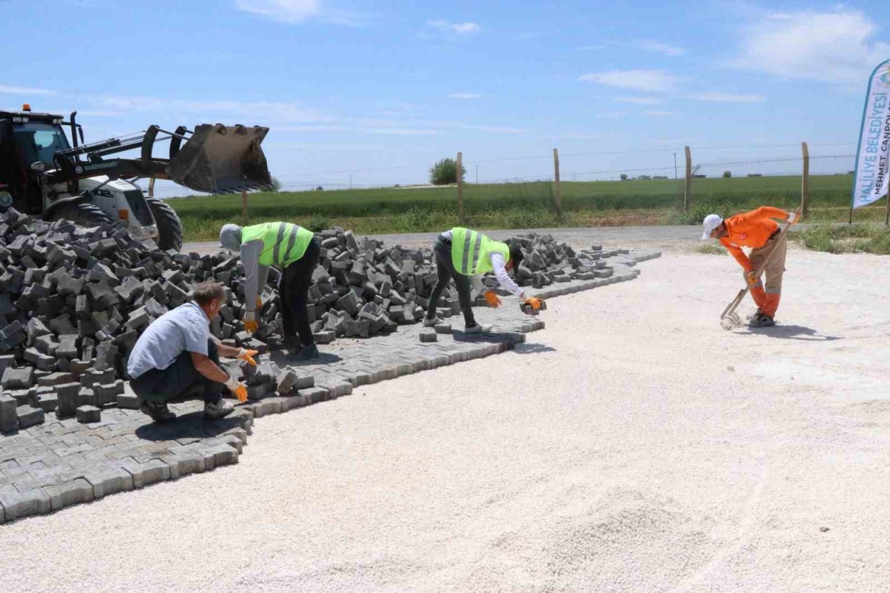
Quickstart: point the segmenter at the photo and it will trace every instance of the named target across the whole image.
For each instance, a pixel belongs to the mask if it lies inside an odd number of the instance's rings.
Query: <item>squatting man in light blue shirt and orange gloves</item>
[[[223,401],[223,386],[239,401],[247,400],[247,386],[220,368],[220,356],[255,365],[256,351],[220,344],[210,333],[225,299],[221,284],[198,284],[194,301],[161,315],[136,341],[126,371],[142,400],[139,409],[156,422],[176,418],[166,402],[196,388],[204,396],[205,418],[223,418],[234,410]]]

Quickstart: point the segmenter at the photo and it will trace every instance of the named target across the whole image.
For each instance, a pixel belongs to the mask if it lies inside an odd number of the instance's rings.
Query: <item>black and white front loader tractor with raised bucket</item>
[[[269,128],[201,124],[84,143],[77,111],[69,121],[48,113],[0,111],[0,211],[16,207],[45,220],[92,226],[125,220],[130,232],[161,249],[182,248],[182,223],[172,207],[146,197],[135,182],[168,179],[190,190],[234,193],[271,184],[260,144]],[[71,141],[63,126],[69,126]],[[164,158],[158,142],[169,141]],[[138,151],[138,157],[118,155]]]

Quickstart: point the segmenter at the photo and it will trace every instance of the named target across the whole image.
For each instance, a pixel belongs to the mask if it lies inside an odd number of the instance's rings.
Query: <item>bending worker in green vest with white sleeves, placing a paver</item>
[[[482,284],[482,274],[485,272],[494,272],[501,288],[506,288],[536,311],[541,306],[541,299],[526,295],[507,273],[522,263],[522,250],[518,245],[508,246],[506,243],[490,240],[481,232],[455,227],[439,235],[433,245],[433,254],[439,281],[433,288],[430,305],[426,309],[424,325],[427,327],[441,323],[441,319],[436,316],[436,307],[442,290],[453,279],[457,286],[460,308],[464,312],[464,331],[468,334],[490,331],[490,326],[476,322],[470,298],[472,286],[476,294],[485,296],[490,306],[498,308],[501,305],[494,288],[485,288]]]

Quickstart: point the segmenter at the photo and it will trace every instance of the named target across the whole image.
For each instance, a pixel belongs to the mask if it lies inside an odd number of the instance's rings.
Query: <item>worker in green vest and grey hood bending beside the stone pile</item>
[[[244,328],[253,333],[259,327],[256,315],[263,306],[261,295],[269,276],[269,266],[278,265],[281,314],[284,317],[284,345],[300,346],[297,355],[318,358],[319,348],[312,337],[306,298],[312,285],[312,272],[319,264],[321,246],[312,231],[291,223],[263,223],[240,227],[226,224],[220,230],[223,248],[238,251],[244,266]],[[297,340],[299,335],[299,340]]]

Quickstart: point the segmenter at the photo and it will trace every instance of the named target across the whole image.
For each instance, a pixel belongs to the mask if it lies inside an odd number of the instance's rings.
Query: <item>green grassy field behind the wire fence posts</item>
[[[812,222],[845,222],[851,175],[810,179]],[[562,216],[555,215],[549,182],[481,184],[464,189],[465,223],[476,228],[697,224],[710,212],[732,215],[769,204],[800,203],[800,177],[695,179],[692,208],[683,212],[683,182],[563,182]],[[224,223],[239,223],[241,198],[169,199],[186,240],[215,240]],[[425,232],[457,224],[456,187],[299,191],[249,195],[249,222],[286,220],[312,230],[342,226],[360,233]],[[856,221],[883,221],[884,205],[857,210]]]

